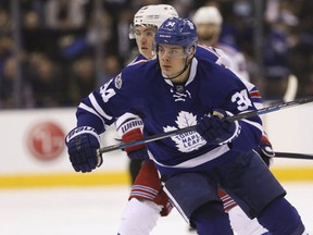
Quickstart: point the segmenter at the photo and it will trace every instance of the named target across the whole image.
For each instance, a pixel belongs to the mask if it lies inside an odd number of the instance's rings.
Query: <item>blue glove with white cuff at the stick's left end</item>
[[[100,137],[95,128],[80,126],[72,129],[65,138],[70,161],[76,172],[91,172],[102,164]]]

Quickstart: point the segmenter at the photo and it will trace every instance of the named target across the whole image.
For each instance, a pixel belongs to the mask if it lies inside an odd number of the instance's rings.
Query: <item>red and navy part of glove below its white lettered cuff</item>
[[[142,133],[141,133],[141,129],[138,127],[138,128],[134,128],[129,132],[124,133],[122,136],[122,141],[128,143],[128,141],[141,139],[141,138],[142,138]],[[148,160],[149,159],[148,151],[147,151],[145,144],[130,146],[123,150],[126,151],[127,156],[133,160]]]

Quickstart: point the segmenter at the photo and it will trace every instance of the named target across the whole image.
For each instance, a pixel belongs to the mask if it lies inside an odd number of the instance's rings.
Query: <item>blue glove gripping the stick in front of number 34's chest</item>
[[[222,145],[231,141],[239,135],[240,125],[225,119],[231,113],[214,110],[212,114],[203,116],[196,126],[196,131],[211,145]]]

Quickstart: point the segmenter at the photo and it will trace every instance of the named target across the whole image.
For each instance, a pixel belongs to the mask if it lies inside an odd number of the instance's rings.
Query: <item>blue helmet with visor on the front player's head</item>
[[[197,28],[188,18],[170,17],[159,27],[154,40],[156,47],[160,44],[177,45],[189,50],[198,44]]]

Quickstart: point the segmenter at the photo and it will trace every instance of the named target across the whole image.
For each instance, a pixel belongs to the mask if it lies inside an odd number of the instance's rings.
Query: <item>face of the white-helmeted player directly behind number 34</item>
[[[156,27],[154,26],[136,26],[136,42],[139,52],[147,59],[153,58],[153,42]]]

